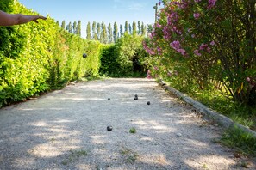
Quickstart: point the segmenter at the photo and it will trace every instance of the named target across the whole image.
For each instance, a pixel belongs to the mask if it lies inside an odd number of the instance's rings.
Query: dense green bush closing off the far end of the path
[[[143,49],[144,36],[128,34],[117,39],[115,45],[103,49],[100,72],[106,76],[134,76],[135,73],[145,75],[144,58],[147,56]]]

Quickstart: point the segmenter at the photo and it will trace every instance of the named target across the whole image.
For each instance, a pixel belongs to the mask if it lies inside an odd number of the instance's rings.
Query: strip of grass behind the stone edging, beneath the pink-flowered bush
[[[209,88],[200,90],[197,87],[180,87],[175,82],[168,82],[173,88],[178,89],[180,92],[189,95],[195,100],[203,103],[203,105],[220,112],[222,115],[227,116],[234,120],[234,122],[243,124],[248,128],[256,131],[256,107],[243,106],[227,96],[224,96],[220,90]]]

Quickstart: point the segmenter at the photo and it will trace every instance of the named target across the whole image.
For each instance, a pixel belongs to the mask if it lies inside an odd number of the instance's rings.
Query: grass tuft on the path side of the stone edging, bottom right
[[[256,156],[256,137],[237,127],[229,128],[223,134],[220,143],[236,149],[242,155]]]

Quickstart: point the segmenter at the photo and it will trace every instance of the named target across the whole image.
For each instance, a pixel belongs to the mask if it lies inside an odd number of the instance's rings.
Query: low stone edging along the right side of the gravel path
[[[205,114],[207,117],[214,119],[217,123],[221,124],[222,127],[228,129],[229,127],[236,126],[236,127],[240,128],[240,130],[246,131],[247,133],[252,134],[253,137],[256,137],[256,131],[250,130],[246,126],[234,122],[232,119],[230,119],[226,116],[223,116],[221,113],[216,112],[207,106],[204,106],[202,103],[198,102],[197,100],[193,100],[186,94],[179,92],[177,89],[167,86],[163,80],[159,80],[159,84],[163,88],[165,88],[165,90],[170,91],[172,94],[177,95],[179,98],[184,100],[186,103],[190,104],[191,106],[194,106],[199,112],[203,112],[203,114]]]

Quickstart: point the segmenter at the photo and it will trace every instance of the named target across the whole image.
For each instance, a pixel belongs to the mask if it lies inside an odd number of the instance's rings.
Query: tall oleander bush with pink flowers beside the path
[[[255,2],[163,0],[144,48],[149,66],[181,88],[217,87],[248,104],[256,99]],[[177,74],[174,74],[177,73]],[[222,84],[215,86],[215,84]],[[256,100],[253,102],[256,104]]]

